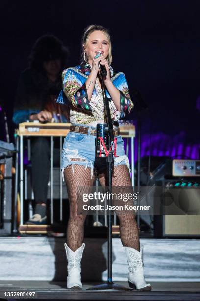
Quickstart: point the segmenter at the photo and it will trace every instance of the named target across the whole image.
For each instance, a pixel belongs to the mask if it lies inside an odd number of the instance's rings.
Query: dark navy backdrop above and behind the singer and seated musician
[[[163,133],[199,144],[200,1],[0,1],[0,99],[12,135],[12,108],[20,73],[35,40],[54,34],[69,47],[68,66],[79,63],[89,24],[111,30],[113,67],[126,75],[149,106],[142,133]],[[129,119],[136,120],[133,110]]]

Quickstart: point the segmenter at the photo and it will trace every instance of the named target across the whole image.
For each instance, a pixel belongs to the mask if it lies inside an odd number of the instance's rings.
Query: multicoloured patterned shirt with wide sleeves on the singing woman
[[[130,112],[133,103],[130,99],[124,73],[119,72],[115,74],[112,68],[110,71],[111,81],[120,91],[121,112],[116,109],[112,100],[109,101],[111,118],[117,121],[124,118],[125,114]],[[102,90],[98,85],[98,79],[96,79],[91,100],[88,100],[85,82],[89,74],[90,66],[88,63],[65,69],[62,73],[63,89],[57,98],[57,103],[66,104],[70,107],[71,123],[88,124],[104,119]],[[111,99],[107,90],[106,96]]]

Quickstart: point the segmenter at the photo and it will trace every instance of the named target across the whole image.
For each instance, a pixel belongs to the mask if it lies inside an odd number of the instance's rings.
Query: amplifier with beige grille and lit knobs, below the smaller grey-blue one
[[[161,202],[166,196],[172,206],[154,216],[155,237],[200,237],[200,178],[165,179],[162,184]]]

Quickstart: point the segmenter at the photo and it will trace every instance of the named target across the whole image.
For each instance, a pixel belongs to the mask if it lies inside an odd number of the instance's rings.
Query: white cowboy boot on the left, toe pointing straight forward
[[[80,276],[80,261],[82,258],[85,244],[83,243],[75,252],[73,252],[65,243],[65,250],[67,255],[67,288],[68,289],[81,289],[81,276]]]

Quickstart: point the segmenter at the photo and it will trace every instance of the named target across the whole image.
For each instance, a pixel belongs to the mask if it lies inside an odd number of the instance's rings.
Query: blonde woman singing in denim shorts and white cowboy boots
[[[83,231],[85,215],[77,215],[77,187],[93,186],[96,125],[105,123],[99,63],[104,65],[111,118],[117,121],[133,107],[124,73],[114,73],[111,67],[112,48],[106,28],[88,26],[82,37],[82,63],[62,73],[63,90],[57,102],[70,105],[71,128],[66,136],[62,152],[62,170],[70,201],[70,218],[67,227],[65,249],[68,260],[67,288],[82,288],[80,262],[85,244]],[[64,93],[63,93],[64,92]],[[70,104],[69,104],[70,103]],[[113,186],[131,186],[129,162],[125,155],[123,140],[117,136],[117,157],[114,160]],[[105,175],[98,175],[105,185]],[[138,290],[150,290],[143,270],[143,247],[140,248],[137,222],[134,213],[118,214],[120,238],[129,265],[128,283]]]

